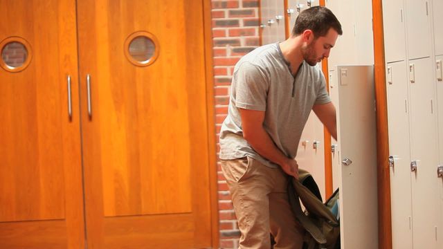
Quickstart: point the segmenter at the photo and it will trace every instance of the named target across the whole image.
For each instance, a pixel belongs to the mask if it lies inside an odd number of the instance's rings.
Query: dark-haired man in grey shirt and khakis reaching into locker
[[[287,198],[298,178],[298,142],[312,110],[336,138],[336,113],[316,66],[329,57],[341,24],[325,7],[304,10],[292,35],[256,48],[235,65],[220,131],[221,169],[242,237],[239,248],[302,248],[303,229]]]

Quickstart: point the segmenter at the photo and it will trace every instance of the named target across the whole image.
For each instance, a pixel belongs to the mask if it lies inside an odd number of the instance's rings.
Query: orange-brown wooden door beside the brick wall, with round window
[[[89,248],[210,247],[203,1],[77,3]]]

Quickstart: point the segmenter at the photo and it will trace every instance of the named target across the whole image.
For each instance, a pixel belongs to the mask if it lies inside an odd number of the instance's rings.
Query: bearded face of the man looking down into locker
[[[307,41],[307,46],[302,48],[303,59],[311,65],[315,66],[321,62],[323,58],[329,57],[331,48],[335,45],[338,33],[334,28],[329,28],[327,34],[323,37],[312,37]]]

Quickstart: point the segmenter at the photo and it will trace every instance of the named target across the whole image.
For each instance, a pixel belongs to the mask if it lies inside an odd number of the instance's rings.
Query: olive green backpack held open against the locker
[[[309,172],[298,170],[298,181],[291,176],[289,204],[298,222],[305,228],[304,249],[340,248],[338,189],[323,203],[317,183]],[[302,211],[300,201],[305,206]]]

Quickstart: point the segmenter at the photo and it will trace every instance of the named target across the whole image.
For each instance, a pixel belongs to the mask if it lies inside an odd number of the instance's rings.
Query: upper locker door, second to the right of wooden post
[[[409,59],[431,56],[430,10],[427,0],[406,0],[406,36]]]

